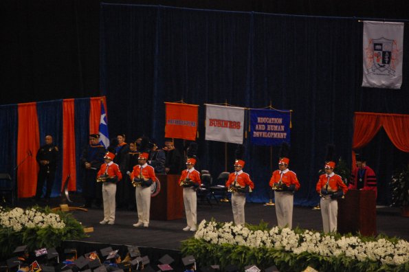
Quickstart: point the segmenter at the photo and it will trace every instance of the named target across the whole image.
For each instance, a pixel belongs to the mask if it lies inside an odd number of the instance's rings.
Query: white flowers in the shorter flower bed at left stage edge
[[[35,227],[64,229],[65,223],[58,214],[44,214],[38,212],[34,207],[26,210],[16,207],[8,212],[0,207],[0,227],[12,228],[14,231]]]

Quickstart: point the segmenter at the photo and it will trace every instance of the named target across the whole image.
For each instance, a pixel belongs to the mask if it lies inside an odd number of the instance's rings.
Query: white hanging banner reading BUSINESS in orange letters
[[[206,137],[208,141],[243,144],[244,108],[206,105]]]

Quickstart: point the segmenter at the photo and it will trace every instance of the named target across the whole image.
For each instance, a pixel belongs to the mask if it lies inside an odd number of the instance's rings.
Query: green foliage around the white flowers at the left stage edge
[[[38,206],[34,207],[38,212],[44,214],[53,211]],[[5,209],[10,210],[10,209]],[[54,212],[60,216],[65,223],[64,229],[54,229],[52,227],[24,227],[21,231],[14,231],[12,228],[0,227],[0,259],[5,260],[12,256],[12,251],[20,245],[27,245],[30,251],[42,247],[59,247],[64,240],[85,238],[85,232],[82,225],[72,216],[65,212]]]

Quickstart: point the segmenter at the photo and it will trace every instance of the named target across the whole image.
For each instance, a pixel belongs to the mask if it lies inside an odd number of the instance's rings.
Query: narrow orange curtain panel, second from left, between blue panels
[[[63,190],[65,179],[70,176],[69,191],[76,191],[76,149],[74,126],[74,99],[63,100]]]

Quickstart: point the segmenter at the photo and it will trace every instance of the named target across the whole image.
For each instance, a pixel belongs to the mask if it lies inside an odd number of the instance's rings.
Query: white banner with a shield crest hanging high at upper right
[[[362,87],[401,89],[404,23],[364,21]]]

